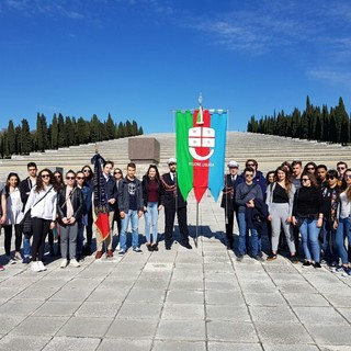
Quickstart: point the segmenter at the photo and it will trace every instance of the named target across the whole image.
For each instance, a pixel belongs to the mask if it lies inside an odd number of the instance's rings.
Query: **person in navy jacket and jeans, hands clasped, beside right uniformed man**
[[[247,227],[246,210],[254,207],[254,200],[263,201],[261,186],[253,183],[254,170],[247,167],[244,171],[245,182],[238,184],[235,194],[235,201],[238,205],[238,223],[239,223],[239,244],[237,261],[241,262],[244,256],[247,253],[247,237],[249,230]],[[251,228],[251,256],[259,261],[262,261],[260,256],[259,233],[256,228]]]

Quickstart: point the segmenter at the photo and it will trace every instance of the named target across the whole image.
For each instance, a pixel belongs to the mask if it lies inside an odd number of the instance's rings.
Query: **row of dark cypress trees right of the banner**
[[[247,131],[252,133],[341,145],[351,143],[350,129],[350,115],[346,111],[342,98],[337,106],[328,109],[327,105],[314,106],[308,95],[305,111],[301,112],[295,107],[292,114],[285,114],[284,111],[278,114],[274,112],[274,115],[261,117],[259,121],[251,116],[247,127]]]

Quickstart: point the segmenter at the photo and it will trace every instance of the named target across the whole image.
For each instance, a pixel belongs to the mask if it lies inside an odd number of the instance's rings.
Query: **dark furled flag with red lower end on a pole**
[[[106,239],[110,235],[109,211],[105,192],[105,179],[102,173],[102,165],[104,163],[103,157],[99,154],[94,155],[91,159],[91,163],[94,165],[94,206],[93,211],[97,214],[97,220],[94,222],[102,239]]]

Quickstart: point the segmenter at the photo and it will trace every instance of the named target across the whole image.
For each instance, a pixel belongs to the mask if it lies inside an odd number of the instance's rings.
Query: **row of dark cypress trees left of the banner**
[[[143,127],[133,120],[114,123],[109,113],[107,120],[101,122],[93,114],[90,121],[55,113],[48,124],[43,113],[37,113],[36,129],[31,131],[29,121],[23,118],[16,127],[9,121],[8,128],[0,133],[0,155],[29,155],[32,151],[44,151],[73,145],[110,140],[144,134]]]

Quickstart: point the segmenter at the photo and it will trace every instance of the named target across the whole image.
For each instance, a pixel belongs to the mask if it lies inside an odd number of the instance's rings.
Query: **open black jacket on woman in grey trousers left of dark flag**
[[[57,192],[57,216],[58,223],[60,225],[63,225],[63,218],[67,217],[66,190],[67,185],[63,186]],[[81,190],[76,186],[73,188],[69,196],[73,207],[73,217],[76,218],[76,222],[78,222],[82,215],[84,207],[83,195],[81,193]]]

